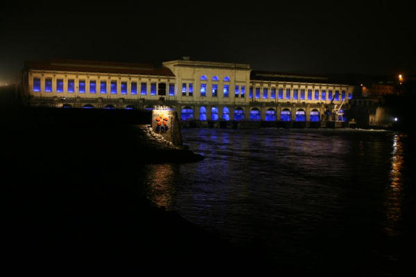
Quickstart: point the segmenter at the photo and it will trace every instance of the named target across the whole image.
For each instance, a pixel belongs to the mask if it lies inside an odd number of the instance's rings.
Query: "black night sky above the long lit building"
[[[399,1],[64,3],[1,8],[0,84],[17,80],[24,60],[49,58],[188,55],[282,72],[416,73],[413,9]]]

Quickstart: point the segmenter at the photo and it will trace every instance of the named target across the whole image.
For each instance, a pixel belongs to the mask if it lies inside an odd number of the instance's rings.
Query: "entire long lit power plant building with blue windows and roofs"
[[[31,107],[174,108],[182,123],[253,121],[325,125],[330,105],[348,109],[354,86],[318,75],[252,71],[249,64],[174,60],[151,64],[49,60],[26,62]]]

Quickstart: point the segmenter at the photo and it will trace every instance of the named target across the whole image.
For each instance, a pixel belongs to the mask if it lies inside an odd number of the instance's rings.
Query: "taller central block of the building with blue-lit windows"
[[[176,77],[182,120],[234,120],[250,104],[250,64],[184,60],[164,62]]]

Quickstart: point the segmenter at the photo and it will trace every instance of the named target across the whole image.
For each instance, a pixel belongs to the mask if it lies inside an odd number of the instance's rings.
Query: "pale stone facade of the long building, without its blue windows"
[[[144,100],[144,105],[155,105],[161,96],[158,95],[158,86],[160,83],[166,84],[166,95],[162,96],[166,102],[175,103],[175,109],[178,116],[181,116],[181,110],[184,107],[193,109],[193,118],[199,119],[200,107],[207,109],[207,120],[211,119],[211,108],[218,108],[218,118],[222,118],[223,108],[229,109],[229,120],[234,120],[234,110],[241,107],[245,110],[245,119],[250,118],[250,110],[257,107],[261,111],[261,118],[264,120],[267,109],[275,109],[277,111],[277,120],[279,120],[280,111],[288,108],[294,116],[297,109],[306,111],[306,118],[309,120],[309,114],[312,109],[318,109],[320,114],[324,114],[324,106],[331,102],[329,98],[329,90],[340,92],[339,100],[334,104],[340,105],[342,102],[342,91],[345,90],[345,104],[348,101],[348,94],[352,93],[354,87],[341,84],[314,84],[304,82],[272,82],[261,80],[250,80],[249,64],[229,64],[220,62],[198,62],[189,60],[177,60],[164,62],[164,66],[171,69],[175,76],[155,76],[155,75],[135,75],[135,74],[110,74],[110,73],[87,73],[72,71],[46,71],[46,70],[30,70],[28,72],[29,91],[35,97],[40,98],[81,98],[87,101],[92,98],[104,98],[117,101],[120,98],[126,100]],[[201,80],[201,76],[207,76],[207,80]],[[214,81],[213,77],[218,76],[218,81]],[[225,81],[225,78],[229,81]],[[41,89],[39,92],[33,91],[33,79],[40,78]],[[45,80],[52,80],[52,91],[45,91]],[[64,80],[63,92],[57,92],[57,80]],[[68,80],[74,80],[74,92],[68,92]],[[79,92],[79,81],[85,80],[85,93]],[[96,93],[90,93],[89,83],[96,81]],[[101,81],[107,82],[107,92],[101,93]],[[111,82],[117,82],[117,93],[111,93]],[[127,83],[127,93],[121,94],[121,82]],[[137,82],[137,94],[131,93],[132,82]],[[146,95],[141,95],[141,83],[146,83]],[[150,85],[157,84],[156,95],[150,95]],[[187,84],[186,96],[182,96],[182,84]],[[175,84],[175,96],[169,96],[169,84]],[[189,84],[193,84],[193,96],[189,96]],[[200,95],[200,85],[207,84],[206,96]],[[218,93],[216,97],[212,96],[213,84],[218,85]],[[223,96],[225,84],[229,85],[229,96]],[[244,97],[235,97],[235,86],[245,86]],[[253,87],[253,98],[250,98],[250,87]],[[255,98],[256,88],[260,89],[260,97]],[[268,89],[268,98],[263,98],[263,89]],[[276,98],[272,99],[271,89],[276,89]],[[283,89],[283,99],[279,99],[279,89]],[[291,89],[291,99],[286,99],[286,89]],[[297,100],[293,99],[293,90],[298,90]],[[300,99],[301,89],[305,89],[305,99]],[[308,100],[308,90],[312,90],[312,99]],[[315,100],[315,89],[319,90],[319,99]],[[326,91],[326,99],[322,100],[322,90]],[[240,95],[239,95],[240,96]],[[143,102],[143,101],[142,101]]]

